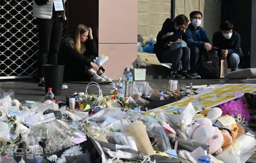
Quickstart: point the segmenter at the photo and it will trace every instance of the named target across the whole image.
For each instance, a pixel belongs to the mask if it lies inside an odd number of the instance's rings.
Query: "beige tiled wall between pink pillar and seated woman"
[[[170,13],[171,0],[138,0],[138,41],[156,38]]]

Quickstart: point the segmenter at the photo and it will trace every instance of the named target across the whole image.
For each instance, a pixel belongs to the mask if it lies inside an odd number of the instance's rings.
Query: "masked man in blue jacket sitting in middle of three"
[[[186,30],[188,39],[188,47],[190,48],[190,75],[194,79],[200,79],[201,76],[197,73],[198,59],[200,51],[206,49],[210,51],[212,45],[207,37],[204,28],[200,27],[203,14],[200,11],[192,11],[190,14],[190,24]]]

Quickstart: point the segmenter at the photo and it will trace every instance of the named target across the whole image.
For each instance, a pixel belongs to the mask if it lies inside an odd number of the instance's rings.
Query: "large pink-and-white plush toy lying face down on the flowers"
[[[210,154],[218,155],[222,152],[223,135],[217,127],[212,126],[212,121],[208,118],[194,119],[189,127],[188,137],[210,145]]]

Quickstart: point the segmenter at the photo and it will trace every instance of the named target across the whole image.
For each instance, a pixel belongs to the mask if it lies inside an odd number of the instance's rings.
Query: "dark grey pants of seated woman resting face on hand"
[[[180,61],[182,62],[182,70],[190,70],[189,65],[190,49],[188,47],[177,50],[167,49],[162,55],[158,55],[161,63],[172,63],[172,71],[180,70]]]

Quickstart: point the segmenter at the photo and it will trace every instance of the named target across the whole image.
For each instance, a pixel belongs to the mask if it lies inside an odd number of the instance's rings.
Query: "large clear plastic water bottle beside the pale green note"
[[[130,95],[132,95],[133,86],[133,76],[132,72],[130,72],[130,68],[126,68],[126,72],[124,72],[123,82],[124,97],[129,97]]]

